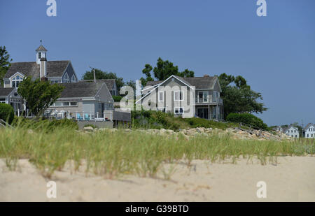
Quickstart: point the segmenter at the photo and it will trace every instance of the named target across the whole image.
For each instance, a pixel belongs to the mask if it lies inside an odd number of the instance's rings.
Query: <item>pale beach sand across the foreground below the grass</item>
[[[111,180],[69,168],[52,177],[57,198],[48,199],[47,182],[23,159],[16,171],[0,160],[0,201],[315,201],[315,157],[280,157],[262,166],[239,159],[237,164],[195,160],[176,164],[172,180],[124,175]],[[169,165],[166,165],[166,169]],[[267,198],[258,199],[257,182],[265,181]]]

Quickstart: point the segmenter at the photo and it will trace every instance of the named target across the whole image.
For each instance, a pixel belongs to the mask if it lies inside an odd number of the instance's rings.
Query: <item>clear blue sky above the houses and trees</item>
[[[269,125],[315,123],[315,1],[0,0],[0,45],[13,62],[34,62],[39,41],[49,60],[69,59],[79,77],[93,66],[124,80],[158,57],[196,76],[242,75],[262,92]]]

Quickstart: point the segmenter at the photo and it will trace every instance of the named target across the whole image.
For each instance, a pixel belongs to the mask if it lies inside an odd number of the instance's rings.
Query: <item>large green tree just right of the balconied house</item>
[[[264,103],[258,101],[262,100],[262,94],[253,91],[241,75],[235,78],[222,73],[218,79],[222,89],[225,117],[230,113],[262,113],[267,110]]]

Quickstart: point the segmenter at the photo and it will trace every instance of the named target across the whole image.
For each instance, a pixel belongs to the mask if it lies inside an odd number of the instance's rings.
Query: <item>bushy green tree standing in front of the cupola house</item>
[[[50,84],[39,79],[32,81],[27,77],[21,82],[18,88],[18,94],[27,101],[27,106],[31,113],[40,117],[52,103],[55,103],[60,97],[64,86],[59,84]]]

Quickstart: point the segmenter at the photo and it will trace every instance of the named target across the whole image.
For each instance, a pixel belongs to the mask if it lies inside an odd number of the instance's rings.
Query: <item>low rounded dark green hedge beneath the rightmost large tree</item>
[[[226,120],[228,122],[249,124],[253,127],[268,130],[267,124],[265,124],[259,117],[249,113],[230,113],[228,117],[226,117]]]

